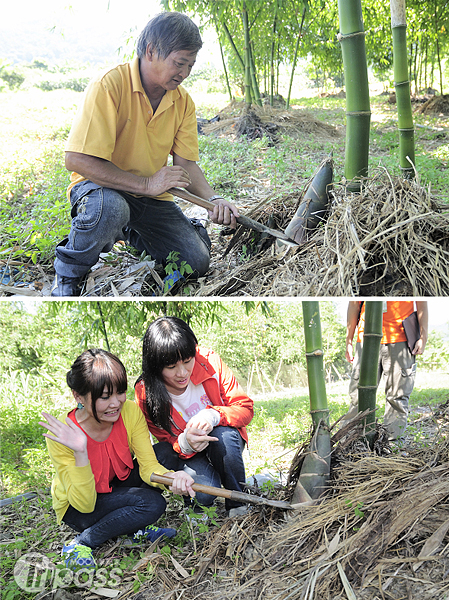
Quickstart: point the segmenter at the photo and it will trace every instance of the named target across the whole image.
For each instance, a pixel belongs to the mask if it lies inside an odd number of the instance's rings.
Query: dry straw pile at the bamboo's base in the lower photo
[[[449,407],[442,408],[447,435]],[[317,505],[225,520],[194,556],[173,563],[172,576],[158,570],[136,600],[447,597],[449,438],[401,455],[381,443],[379,456],[359,435],[334,436],[331,487]]]

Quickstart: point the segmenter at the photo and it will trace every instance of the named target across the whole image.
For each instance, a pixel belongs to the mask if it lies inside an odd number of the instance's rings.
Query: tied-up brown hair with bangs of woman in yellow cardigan
[[[104,388],[111,395],[114,387],[118,394],[125,393],[128,387],[126,369],[121,360],[115,354],[98,348],[86,350],[78,356],[66,375],[66,381],[69,388],[81,396],[90,392],[92,413],[98,422],[96,402],[103,395]]]

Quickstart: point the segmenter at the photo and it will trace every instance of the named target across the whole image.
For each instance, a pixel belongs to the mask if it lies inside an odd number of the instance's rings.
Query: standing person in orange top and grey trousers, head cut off
[[[385,415],[384,426],[388,429],[389,439],[400,438],[407,427],[408,401],[415,384],[417,354],[422,354],[427,343],[428,308],[427,302],[417,301],[416,312],[419,323],[419,339],[410,351],[403,321],[415,310],[413,301],[387,301],[382,318],[382,339],[379,351],[378,379],[385,378]],[[365,305],[351,301],[348,305],[346,358],[352,363],[349,384],[350,408],[342,424],[358,413],[357,386],[360,375],[363,330],[365,324]],[[358,325],[358,328],[357,328]],[[357,342],[353,352],[353,338],[357,328]]]

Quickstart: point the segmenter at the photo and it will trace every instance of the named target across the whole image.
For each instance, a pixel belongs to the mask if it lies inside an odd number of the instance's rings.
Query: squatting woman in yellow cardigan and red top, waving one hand
[[[58,523],[78,532],[63,547],[66,565],[95,568],[92,550],[119,535],[134,541],[176,535],[153,525],[166,503],[164,486],[152,484],[150,476],[165,474],[174,493],[192,497],[193,480],[158,463],[142,412],[126,400],[123,364],[105,350],[86,350],[67,373],[67,384],[78,408],[64,421],[42,413],[46,422],[39,423],[49,431],[43,435],[56,469],[51,494]]]

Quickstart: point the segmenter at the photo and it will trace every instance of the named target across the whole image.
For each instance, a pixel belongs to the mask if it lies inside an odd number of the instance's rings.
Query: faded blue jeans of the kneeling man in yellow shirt
[[[91,181],[75,185],[70,194],[72,226],[69,237],[56,247],[55,271],[83,277],[118,240],[129,240],[165,265],[168,254],[179,252],[196,275],[209,268],[210,240],[204,227],[194,225],[174,202],[135,198]]]

